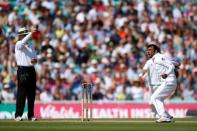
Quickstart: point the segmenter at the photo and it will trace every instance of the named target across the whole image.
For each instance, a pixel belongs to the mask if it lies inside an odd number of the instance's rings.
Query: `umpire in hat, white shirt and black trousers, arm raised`
[[[29,32],[26,28],[20,28],[18,31],[19,40],[15,45],[15,58],[17,62],[17,98],[15,120],[22,121],[22,115],[27,98],[28,120],[36,121],[34,116],[34,101],[36,90],[36,72],[34,64],[37,62],[34,45],[30,42],[33,29]]]

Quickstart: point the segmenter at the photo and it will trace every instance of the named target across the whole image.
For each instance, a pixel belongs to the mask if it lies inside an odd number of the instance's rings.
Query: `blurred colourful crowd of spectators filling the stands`
[[[196,0],[0,0],[0,101],[16,97],[14,47],[21,27],[36,28],[36,100],[79,100],[84,74],[93,99],[148,102],[138,81],[146,45],[180,63],[170,102],[197,100]]]

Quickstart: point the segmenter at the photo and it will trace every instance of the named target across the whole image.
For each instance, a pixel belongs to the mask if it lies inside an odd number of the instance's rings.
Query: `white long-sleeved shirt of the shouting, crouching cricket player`
[[[155,54],[146,62],[143,70],[147,70],[148,83],[150,86],[159,86],[162,82],[173,85],[176,84],[174,65],[163,54]],[[163,79],[161,77],[162,74],[167,74],[168,77]]]

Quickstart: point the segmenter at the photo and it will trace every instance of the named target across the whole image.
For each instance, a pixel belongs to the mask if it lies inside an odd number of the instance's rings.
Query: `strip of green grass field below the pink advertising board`
[[[197,118],[155,123],[154,119],[39,120],[36,122],[0,120],[0,131],[197,131]]]

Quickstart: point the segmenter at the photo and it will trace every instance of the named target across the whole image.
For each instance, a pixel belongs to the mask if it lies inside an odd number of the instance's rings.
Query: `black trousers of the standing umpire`
[[[34,117],[34,101],[36,91],[36,72],[33,66],[18,66],[17,99],[15,117],[22,116],[27,98],[28,118]]]

